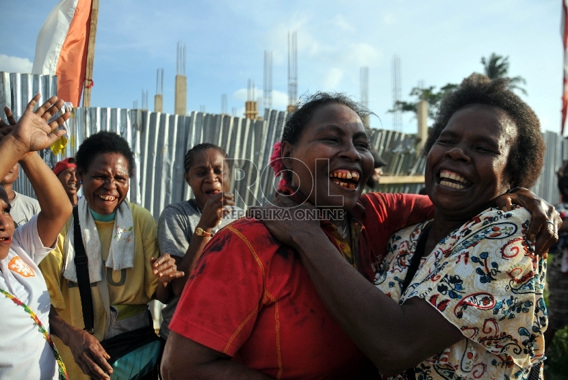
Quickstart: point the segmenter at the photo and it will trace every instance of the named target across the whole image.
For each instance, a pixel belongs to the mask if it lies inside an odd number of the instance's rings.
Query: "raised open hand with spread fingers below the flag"
[[[34,111],[34,107],[40,100],[40,97],[41,95],[37,94],[29,101],[23,116],[15,124],[12,124],[15,120],[10,109],[6,109],[8,107],[4,109],[8,122],[13,125],[10,134],[13,135],[18,143],[21,143],[21,146],[27,152],[35,152],[51,146],[65,134],[63,130],[56,131],[57,127],[61,126],[71,116],[66,111],[62,116],[48,124],[49,119],[63,107],[64,100],[57,98],[57,96],[52,96]],[[10,126],[6,126],[5,123],[2,122],[0,124],[0,131],[8,131],[8,128]]]

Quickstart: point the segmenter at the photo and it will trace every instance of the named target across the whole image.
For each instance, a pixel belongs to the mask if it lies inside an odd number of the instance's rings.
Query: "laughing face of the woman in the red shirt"
[[[292,185],[300,187],[318,207],[357,204],[374,161],[361,118],[341,104],[323,105],[313,112],[296,146],[283,141]]]

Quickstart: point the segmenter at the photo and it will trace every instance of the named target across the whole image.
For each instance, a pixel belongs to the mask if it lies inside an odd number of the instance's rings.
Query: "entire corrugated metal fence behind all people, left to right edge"
[[[57,78],[0,72],[0,106],[8,105],[16,117],[34,94],[47,99],[56,93]],[[131,178],[129,199],[159,217],[162,209],[190,198],[183,179],[183,157],[188,148],[201,142],[221,146],[233,159],[231,189],[237,206],[244,208],[271,200],[274,176],[268,167],[272,145],[281,135],[286,112],[266,110],[263,121],[191,112],[188,116],[133,109],[77,108],[67,126],[71,138],[59,155],[42,152],[51,167],[75,154],[86,137],[98,131],[114,131],[127,139],[135,153],[135,174]],[[543,133],[547,146],[545,167],[533,191],[550,203],[558,202],[556,169],[568,159],[568,142],[553,132]],[[373,129],[371,143],[389,163],[385,174],[406,176],[424,173],[425,159],[417,157],[415,135]],[[381,191],[417,193],[423,184],[383,185]],[[15,185],[18,191],[34,195],[25,176]]]

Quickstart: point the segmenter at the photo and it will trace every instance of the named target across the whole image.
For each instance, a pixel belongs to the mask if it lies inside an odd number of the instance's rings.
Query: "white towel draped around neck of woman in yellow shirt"
[[[101,241],[99,232],[96,230],[94,219],[90,213],[89,206],[85,198],[79,200],[79,224],[83,245],[89,262],[90,282],[99,282],[103,278],[103,256],[101,254]],[[123,201],[114,217],[114,227],[112,241],[110,243],[109,256],[105,262],[105,267],[112,268],[114,271],[132,268],[134,264],[134,221],[132,211],[128,201]],[[75,223],[72,218],[69,230],[65,236],[63,249],[65,252],[65,262],[63,267],[63,277],[69,281],[77,282],[77,270],[75,268],[75,249],[74,249]]]

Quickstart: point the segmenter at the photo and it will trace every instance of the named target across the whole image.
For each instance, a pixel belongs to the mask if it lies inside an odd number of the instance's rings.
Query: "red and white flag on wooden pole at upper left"
[[[87,62],[92,0],[61,0],[38,33],[33,74],[57,75],[57,96],[79,107]]]

